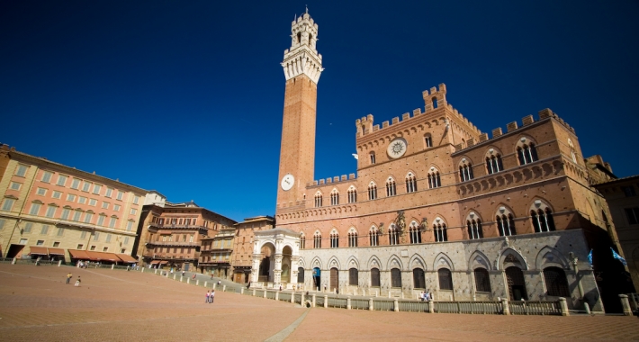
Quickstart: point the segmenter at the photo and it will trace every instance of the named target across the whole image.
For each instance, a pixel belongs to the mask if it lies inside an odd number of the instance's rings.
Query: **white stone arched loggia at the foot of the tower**
[[[260,265],[263,262],[262,247],[272,248],[269,258],[268,275],[260,280]],[[253,242],[253,266],[251,268],[252,288],[279,289],[297,286],[297,267],[300,259],[300,233],[289,229],[268,229],[255,232]]]

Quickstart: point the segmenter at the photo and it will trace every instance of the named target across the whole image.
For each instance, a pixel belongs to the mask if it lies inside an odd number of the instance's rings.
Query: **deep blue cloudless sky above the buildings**
[[[546,107],[619,176],[639,124],[636,1],[4,1],[0,142],[193,200],[275,212],[295,14],[319,24],[315,178],[356,172],[355,120],[447,100],[482,131]]]

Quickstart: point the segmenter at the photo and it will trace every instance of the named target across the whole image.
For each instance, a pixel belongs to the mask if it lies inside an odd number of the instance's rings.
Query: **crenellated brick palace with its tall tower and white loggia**
[[[489,136],[448,103],[442,84],[401,118],[356,119],[356,174],[315,180],[317,37],[309,14],[292,23],[277,229],[256,234],[252,286],[409,298],[428,289],[440,301],[566,297],[572,308],[602,310],[587,256],[616,238],[567,122],[545,109]]]

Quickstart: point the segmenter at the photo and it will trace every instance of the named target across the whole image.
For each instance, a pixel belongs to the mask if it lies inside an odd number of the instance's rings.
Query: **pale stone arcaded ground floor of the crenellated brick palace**
[[[571,252],[578,257],[579,279]],[[569,308],[583,308],[581,282],[585,302],[592,311],[603,311],[588,252],[583,231],[572,229],[443,243],[301,249],[299,266],[307,290],[406,299],[417,299],[428,290],[441,302],[519,300],[520,296],[527,301],[556,301],[560,296],[549,295],[545,284],[551,272],[563,273]],[[476,284],[482,275],[488,279],[483,288]],[[513,275],[519,276],[515,283]]]

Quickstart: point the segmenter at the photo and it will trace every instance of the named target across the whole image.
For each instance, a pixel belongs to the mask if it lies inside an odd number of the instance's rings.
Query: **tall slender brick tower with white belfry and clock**
[[[280,148],[277,209],[299,205],[315,167],[315,112],[318,81],[323,70],[315,49],[318,25],[303,14],[291,25],[291,48],[284,50],[284,120]]]

